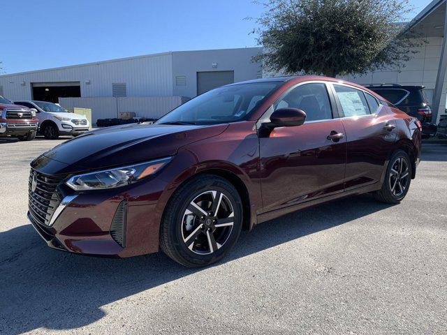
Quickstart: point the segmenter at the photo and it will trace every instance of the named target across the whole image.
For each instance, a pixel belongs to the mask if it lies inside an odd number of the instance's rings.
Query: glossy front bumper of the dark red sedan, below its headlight
[[[154,253],[158,251],[163,210],[157,205],[166,186],[165,181],[153,178],[108,191],[78,193],[64,203],[68,193],[75,193],[61,184],[58,193],[64,200],[48,225],[39,223],[33,213],[29,212],[28,218],[48,246],[58,250],[118,258]],[[124,202],[125,213],[117,223]]]

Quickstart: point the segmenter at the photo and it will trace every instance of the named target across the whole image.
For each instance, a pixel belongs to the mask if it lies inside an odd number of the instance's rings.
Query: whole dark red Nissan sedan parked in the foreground
[[[28,216],[53,248],[124,258],[161,247],[200,267],[242,229],[297,209],[367,192],[400,202],[419,161],[419,121],[365,87],[252,80],[45,152],[31,163]]]

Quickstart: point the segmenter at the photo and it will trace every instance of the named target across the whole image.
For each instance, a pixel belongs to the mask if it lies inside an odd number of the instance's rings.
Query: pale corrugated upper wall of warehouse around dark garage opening
[[[128,96],[173,96],[172,54],[154,54],[79,66],[1,75],[10,100],[31,99],[31,83],[80,82],[81,96],[112,96],[112,83],[126,83]]]

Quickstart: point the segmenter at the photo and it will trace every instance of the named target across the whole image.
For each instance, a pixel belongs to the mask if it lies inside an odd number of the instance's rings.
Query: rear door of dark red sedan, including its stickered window
[[[366,91],[345,84],[332,87],[346,132],[344,188],[379,182],[396,138],[393,114]]]

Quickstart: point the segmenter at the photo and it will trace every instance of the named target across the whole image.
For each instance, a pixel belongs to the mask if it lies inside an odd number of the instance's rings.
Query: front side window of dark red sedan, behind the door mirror
[[[303,84],[292,89],[274,104],[274,110],[291,107],[306,113],[306,121],[332,119],[332,110],[326,85]]]

